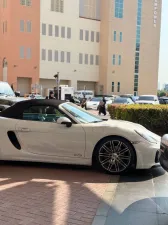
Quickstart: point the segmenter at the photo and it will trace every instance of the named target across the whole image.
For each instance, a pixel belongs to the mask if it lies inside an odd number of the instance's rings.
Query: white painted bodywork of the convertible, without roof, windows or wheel
[[[92,124],[64,125],[34,122],[0,117],[0,159],[91,165],[96,144],[107,136],[121,136],[132,143],[137,155],[137,169],[147,169],[155,164],[160,148],[139,136],[135,129],[145,132],[141,125],[127,121],[109,120]],[[7,132],[15,131],[22,146],[16,149],[8,139]],[[54,135],[55,134],[55,135]],[[153,134],[154,135],[154,134]]]

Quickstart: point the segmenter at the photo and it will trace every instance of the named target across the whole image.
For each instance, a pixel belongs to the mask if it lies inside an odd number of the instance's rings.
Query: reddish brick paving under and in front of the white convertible
[[[91,225],[110,179],[91,168],[1,165],[0,225]]]

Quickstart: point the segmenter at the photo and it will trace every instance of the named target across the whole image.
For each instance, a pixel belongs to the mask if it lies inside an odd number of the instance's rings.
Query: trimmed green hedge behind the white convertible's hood
[[[168,133],[167,105],[109,105],[108,111],[111,119],[139,123],[159,135]]]

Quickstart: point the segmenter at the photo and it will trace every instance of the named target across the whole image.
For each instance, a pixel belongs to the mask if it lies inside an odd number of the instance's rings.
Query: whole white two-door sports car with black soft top
[[[57,100],[27,100],[0,114],[0,159],[94,165],[112,174],[158,162],[160,137],[126,121],[102,120]]]

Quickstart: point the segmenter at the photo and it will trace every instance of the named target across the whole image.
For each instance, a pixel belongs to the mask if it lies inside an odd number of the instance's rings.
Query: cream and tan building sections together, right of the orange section
[[[43,91],[60,84],[97,94],[156,94],[161,0],[41,0]]]

